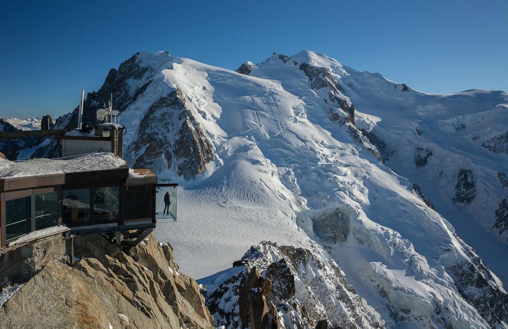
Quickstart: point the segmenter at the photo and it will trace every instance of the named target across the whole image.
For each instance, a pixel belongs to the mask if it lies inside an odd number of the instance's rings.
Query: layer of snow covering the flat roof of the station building
[[[124,160],[109,152],[93,152],[66,159],[39,158],[21,162],[0,158],[0,178],[111,170],[125,164]]]

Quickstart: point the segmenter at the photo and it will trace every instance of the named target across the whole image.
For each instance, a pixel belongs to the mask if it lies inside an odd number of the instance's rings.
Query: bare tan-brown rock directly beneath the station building
[[[75,239],[81,260],[47,261],[0,308],[0,327],[214,327],[196,281],[178,272],[169,245],[149,236],[122,251],[102,235]]]

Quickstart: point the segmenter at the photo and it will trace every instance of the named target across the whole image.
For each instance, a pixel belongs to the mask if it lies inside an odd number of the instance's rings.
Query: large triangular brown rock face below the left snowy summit
[[[180,89],[160,98],[148,109],[129,152],[136,154],[134,168],[155,171],[171,168],[174,158],[177,174],[185,179],[201,174],[206,163],[214,158],[213,146],[187,109],[186,97]]]

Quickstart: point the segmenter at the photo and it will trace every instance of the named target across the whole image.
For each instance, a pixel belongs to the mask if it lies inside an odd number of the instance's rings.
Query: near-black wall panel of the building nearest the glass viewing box
[[[152,188],[153,185],[130,186],[125,191],[122,201],[125,220],[152,218]]]

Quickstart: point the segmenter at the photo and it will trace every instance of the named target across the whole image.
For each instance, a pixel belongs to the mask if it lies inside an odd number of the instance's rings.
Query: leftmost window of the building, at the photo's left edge
[[[31,232],[31,196],[5,202],[6,240]]]

